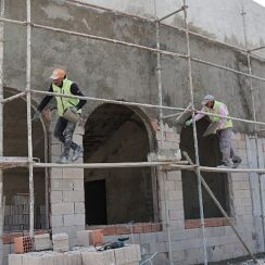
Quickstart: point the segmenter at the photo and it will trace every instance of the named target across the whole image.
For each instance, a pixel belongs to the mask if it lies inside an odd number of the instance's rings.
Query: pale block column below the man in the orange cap
[[[83,135],[84,129],[77,126],[74,141],[83,144]],[[62,150],[62,143],[52,137],[52,162],[59,159]],[[83,163],[83,157],[76,163]],[[52,168],[50,190],[52,232],[66,232],[73,247],[76,244],[76,231],[85,229],[84,169]]]

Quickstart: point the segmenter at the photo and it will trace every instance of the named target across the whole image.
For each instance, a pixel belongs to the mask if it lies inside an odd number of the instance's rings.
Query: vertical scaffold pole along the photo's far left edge
[[[0,16],[4,15],[4,0],[1,0]],[[3,27],[0,24],[0,101],[3,100]],[[0,104],[0,156],[3,155],[3,104]],[[4,203],[3,203],[3,171],[0,168],[0,265],[3,264],[3,226],[4,226]]]

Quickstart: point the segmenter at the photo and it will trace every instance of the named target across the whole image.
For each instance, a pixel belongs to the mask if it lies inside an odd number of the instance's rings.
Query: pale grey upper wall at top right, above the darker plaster
[[[140,14],[148,17],[162,17],[182,5],[182,0],[83,0],[84,2],[108,7],[118,11]],[[188,21],[192,30],[213,37],[217,40],[244,47],[243,22],[241,16],[242,7],[247,12],[247,33],[250,47],[264,45],[265,9],[252,0],[194,0],[187,1]],[[166,24],[182,26],[182,14],[167,18]],[[264,54],[264,53],[263,53]]]

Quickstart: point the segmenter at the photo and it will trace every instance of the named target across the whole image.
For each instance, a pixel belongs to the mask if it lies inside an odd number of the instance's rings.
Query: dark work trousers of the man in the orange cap
[[[59,117],[55,129],[54,137],[64,143],[63,155],[70,155],[70,150],[76,150],[79,146],[73,142],[73,134],[76,127],[76,123],[71,123],[63,117]]]

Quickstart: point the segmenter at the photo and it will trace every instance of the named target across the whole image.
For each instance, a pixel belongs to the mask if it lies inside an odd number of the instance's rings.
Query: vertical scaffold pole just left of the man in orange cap
[[[31,128],[31,7],[30,0],[27,0],[27,60],[26,60],[26,92],[27,92],[27,148],[28,160],[33,161],[33,128]],[[29,175],[29,237],[34,237],[34,173],[33,163],[28,164]]]

